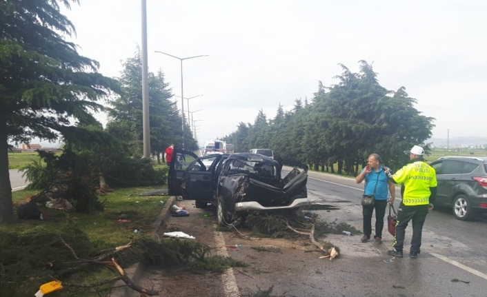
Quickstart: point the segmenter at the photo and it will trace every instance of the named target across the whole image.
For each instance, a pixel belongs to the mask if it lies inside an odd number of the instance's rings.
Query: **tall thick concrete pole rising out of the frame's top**
[[[147,3],[142,0],[142,126],[143,157],[150,157],[149,81],[147,61]]]

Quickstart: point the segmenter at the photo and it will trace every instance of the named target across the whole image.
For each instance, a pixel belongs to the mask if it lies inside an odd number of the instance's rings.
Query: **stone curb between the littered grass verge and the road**
[[[168,202],[161,210],[159,216],[157,216],[156,221],[152,223],[152,228],[155,228],[154,237],[159,238],[159,236],[163,233],[166,224],[168,223],[168,219],[170,218],[170,210],[172,205],[175,205],[177,201],[176,196],[170,196]],[[125,269],[126,275],[132,283],[139,283],[143,271],[146,269],[146,265],[144,263],[135,263],[134,265]],[[119,287],[121,286],[121,287]],[[123,283],[122,280],[118,280],[113,287],[117,287],[116,289],[112,289],[108,296],[110,297],[132,297],[132,296],[139,296],[139,293],[130,289],[130,287],[126,287],[126,283]],[[136,295],[137,294],[137,295]]]

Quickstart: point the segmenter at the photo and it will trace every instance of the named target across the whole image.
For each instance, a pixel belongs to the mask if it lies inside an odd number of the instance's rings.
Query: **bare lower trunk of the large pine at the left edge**
[[[15,223],[12,185],[8,172],[7,117],[0,114],[0,224]]]

